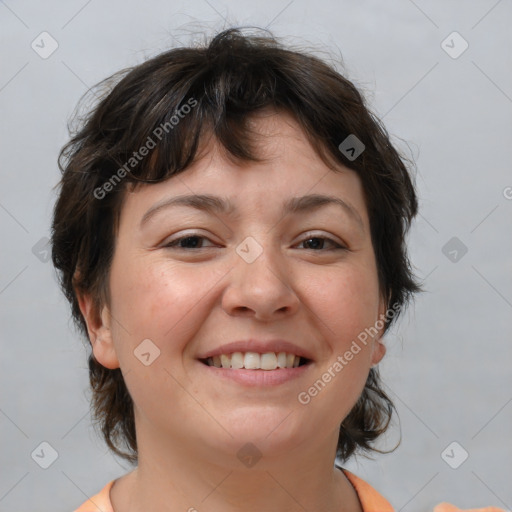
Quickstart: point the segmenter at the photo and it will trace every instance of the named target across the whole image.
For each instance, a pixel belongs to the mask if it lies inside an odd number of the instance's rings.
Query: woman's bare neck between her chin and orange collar
[[[111,489],[115,512],[362,512],[344,474],[334,467],[337,437],[259,460],[225,454],[219,447],[162,444],[141,436],[138,467]],[[172,444],[172,446],[169,446]],[[261,443],[260,445],[261,446]],[[329,451],[328,451],[329,450]]]

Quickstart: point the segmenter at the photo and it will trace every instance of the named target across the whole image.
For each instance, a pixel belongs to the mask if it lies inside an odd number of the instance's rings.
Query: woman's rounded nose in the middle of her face
[[[264,248],[251,263],[237,253],[222,297],[222,308],[231,316],[271,321],[290,316],[299,307],[293,273],[278,250]]]

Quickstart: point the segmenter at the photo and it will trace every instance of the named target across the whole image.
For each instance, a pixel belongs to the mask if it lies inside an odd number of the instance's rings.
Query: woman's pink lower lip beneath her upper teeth
[[[278,368],[276,370],[233,370],[231,368],[217,368],[208,366],[201,361],[199,364],[212,376],[221,379],[235,381],[244,386],[277,386],[285,382],[299,378],[308,371],[311,363],[297,366],[296,368]]]

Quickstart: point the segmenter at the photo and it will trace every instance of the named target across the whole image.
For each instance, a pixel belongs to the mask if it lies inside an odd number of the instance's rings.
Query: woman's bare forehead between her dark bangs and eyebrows
[[[194,162],[181,173],[127,194],[130,217],[144,218],[147,209],[173,196],[216,195],[229,198],[232,210],[269,211],[307,194],[340,197],[367,223],[361,180],[342,164],[330,168],[307,135],[285,113],[262,111],[246,121],[251,144],[261,162],[236,160],[214,136],[203,137]],[[277,209],[275,210],[278,211]],[[126,212],[124,212],[126,214]]]

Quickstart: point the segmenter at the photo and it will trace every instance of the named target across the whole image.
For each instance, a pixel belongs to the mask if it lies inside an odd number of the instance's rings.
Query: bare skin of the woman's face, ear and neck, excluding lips
[[[110,304],[98,312],[80,297],[96,359],[121,368],[135,404],[139,463],[111,490],[116,512],[362,510],[334,458],[339,425],[385,354],[382,333],[307,405],[297,400],[385,312],[362,184],[329,169],[288,115],[252,127],[263,163],[236,164],[212,140],[182,174],[128,192]],[[139,227],[158,202],[192,193],[229,198],[237,215],[175,206]],[[281,214],[285,200],[313,193],[350,203],[362,227],[336,205]],[[206,238],[165,247],[192,233]],[[249,236],[263,250],[250,264],[236,252]],[[248,338],[290,340],[314,361],[262,390],[213,378],[196,359]],[[149,366],[134,357],[144,339],[160,350]],[[250,468],[237,457],[248,442],[262,455]]]

